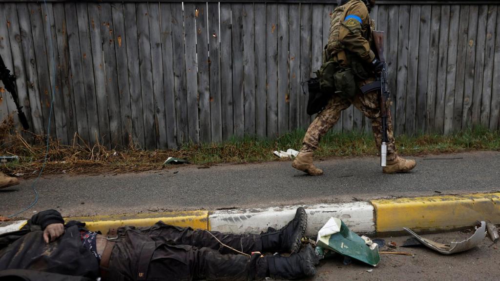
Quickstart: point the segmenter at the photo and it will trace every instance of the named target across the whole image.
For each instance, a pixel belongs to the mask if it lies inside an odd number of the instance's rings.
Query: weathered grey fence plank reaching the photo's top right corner
[[[497,5],[489,5],[488,20],[486,23],[486,44],[484,50],[484,68],[481,99],[481,125],[489,126],[489,117],[491,112],[491,89],[493,86],[493,62],[495,48],[495,29],[497,20]],[[496,31],[498,32],[498,31]],[[495,81],[500,83],[500,81]]]

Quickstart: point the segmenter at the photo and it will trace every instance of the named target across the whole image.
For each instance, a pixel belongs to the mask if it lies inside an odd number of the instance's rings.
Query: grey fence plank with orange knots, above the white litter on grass
[[[278,4],[277,24],[277,50],[278,50],[278,134],[288,132],[289,120],[289,72],[288,72],[288,49],[289,49],[289,23],[288,5]],[[293,19],[292,19],[293,20]]]

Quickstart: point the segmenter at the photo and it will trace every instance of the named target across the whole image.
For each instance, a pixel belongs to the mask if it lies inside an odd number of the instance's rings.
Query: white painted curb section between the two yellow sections
[[[210,230],[232,233],[260,233],[267,227],[279,229],[290,221],[297,207],[307,211],[307,236],[317,231],[330,217],[338,217],[358,233],[375,232],[373,206],[369,202],[296,205],[255,209],[217,210],[208,215]]]

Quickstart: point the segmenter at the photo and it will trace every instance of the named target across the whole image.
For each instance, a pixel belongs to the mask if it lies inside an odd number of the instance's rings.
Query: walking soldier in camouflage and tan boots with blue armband
[[[383,65],[375,58],[375,54],[370,48],[370,44],[373,43],[371,30],[374,29],[374,21],[370,20],[368,13],[375,4],[375,0],[337,0],[337,2],[338,6],[331,15],[328,46],[323,62],[333,61],[337,63],[336,73],[346,69],[352,71],[352,86],[347,85],[346,88],[354,90],[344,94],[335,92],[328,104],[309,125],[303,139],[303,146],[292,166],[310,175],[323,173],[312,163],[312,152],[318,147],[321,136],[335,124],[341,111],[349,107],[351,103],[371,119],[373,135],[378,147],[380,147],[382,138],[379,93],[372,91],[363,94],[359,90],[359,87],[375,80],[375,73],[379,72]],[[345,78],[341,79],[342,84],[348,83],[345,80]],[[338,89],[339,85],[336,86]],[[382,168],[382,171],[384,173],[407,172],[415,166],[415,161],[406,160],[397,155],[390,114],[387,127],[389,139],[387,164]]]

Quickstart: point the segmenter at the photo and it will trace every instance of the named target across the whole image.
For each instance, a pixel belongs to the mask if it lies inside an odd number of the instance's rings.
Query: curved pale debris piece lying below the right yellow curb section
[[[466,251],[477,246],[481,242],[481,240],[484,239],[484,236],[486,235],[486,222],[481,221],[481,226],[477,228],[474,234],[469,238],[461,242],[450,242],[449,244],[442,244],[439,242],[431,241],[429,239],[425,239],[423,237],[420,237],[415,232],[411,231],[406,227],[403,227],[403,229],[406,230],[406,232],[413,235],[418,241],[420,241],[428,248],[436,250],[442,254],[452,254],[461,251]]]

